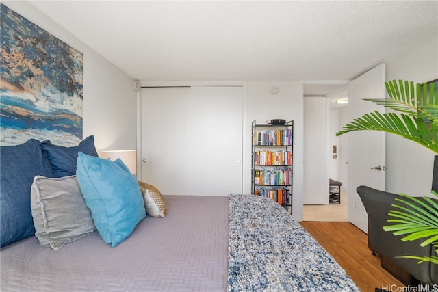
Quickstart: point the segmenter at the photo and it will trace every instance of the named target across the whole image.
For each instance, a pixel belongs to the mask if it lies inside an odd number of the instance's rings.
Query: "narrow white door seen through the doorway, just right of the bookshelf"
[[[304,204],[329,204],[329,98],[304,98]]]

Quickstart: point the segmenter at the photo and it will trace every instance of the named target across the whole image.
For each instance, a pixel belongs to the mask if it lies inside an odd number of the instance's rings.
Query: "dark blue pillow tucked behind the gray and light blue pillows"
[[[53,145],[49,140],[42,141],[40,146],[52,165],[54,177],[76,174],[77,153],[79,151],[95,157],[98,156],[94,146],[94,136],[86,137],[73,147]]]

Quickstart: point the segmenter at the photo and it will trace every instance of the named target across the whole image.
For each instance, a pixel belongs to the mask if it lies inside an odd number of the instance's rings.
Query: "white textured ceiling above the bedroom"
[[[438,1],[29,1],[138,80],[352,79],[438,36]]]

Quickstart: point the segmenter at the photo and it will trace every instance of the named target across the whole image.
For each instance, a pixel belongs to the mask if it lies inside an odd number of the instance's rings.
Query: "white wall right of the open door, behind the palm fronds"
[[[438,40],[415,51],[387,61],[387,81],[409,80],[418,83],[438,78]],[[430,194],[434,153],[420,144],[397,135],[386,135],[386,189],[412,196]]]

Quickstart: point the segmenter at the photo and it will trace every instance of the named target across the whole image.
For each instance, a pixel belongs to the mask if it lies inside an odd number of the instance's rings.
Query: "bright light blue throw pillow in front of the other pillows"
[[[137,178],[120,159],[110,161],[79,152],[76,178],[94,226],[113,248],[146,217]]]

